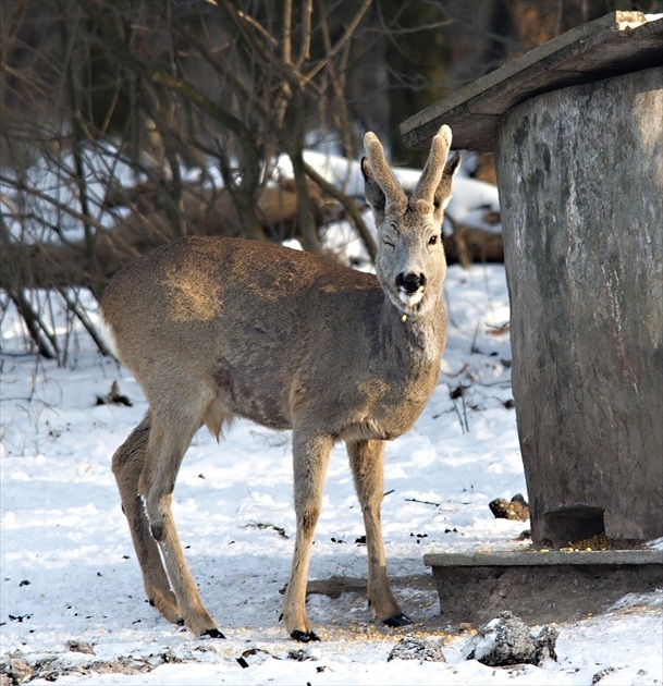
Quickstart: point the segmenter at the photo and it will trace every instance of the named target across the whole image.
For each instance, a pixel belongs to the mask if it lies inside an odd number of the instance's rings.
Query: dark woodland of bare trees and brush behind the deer
[[[64,307],[183,234],[297,240],[345,219],[375,255],[359,194],[306,160],[356,160],[366,131],[422,164],[398,124],[561,33],[661,0],[3,0],[0,323],[67,357]],[[280,177],[285,156],[292,173]],[[490,156],[471,170],[494,183]],[[446,240],[445,240],[446,242]],[[454,259],[454,246],[447,246]]]

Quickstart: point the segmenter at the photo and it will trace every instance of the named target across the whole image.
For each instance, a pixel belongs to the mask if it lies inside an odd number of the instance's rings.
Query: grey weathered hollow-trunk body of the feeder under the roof
[[[663,70],[512,108],[496,161],[536,542],[663,536]]]

